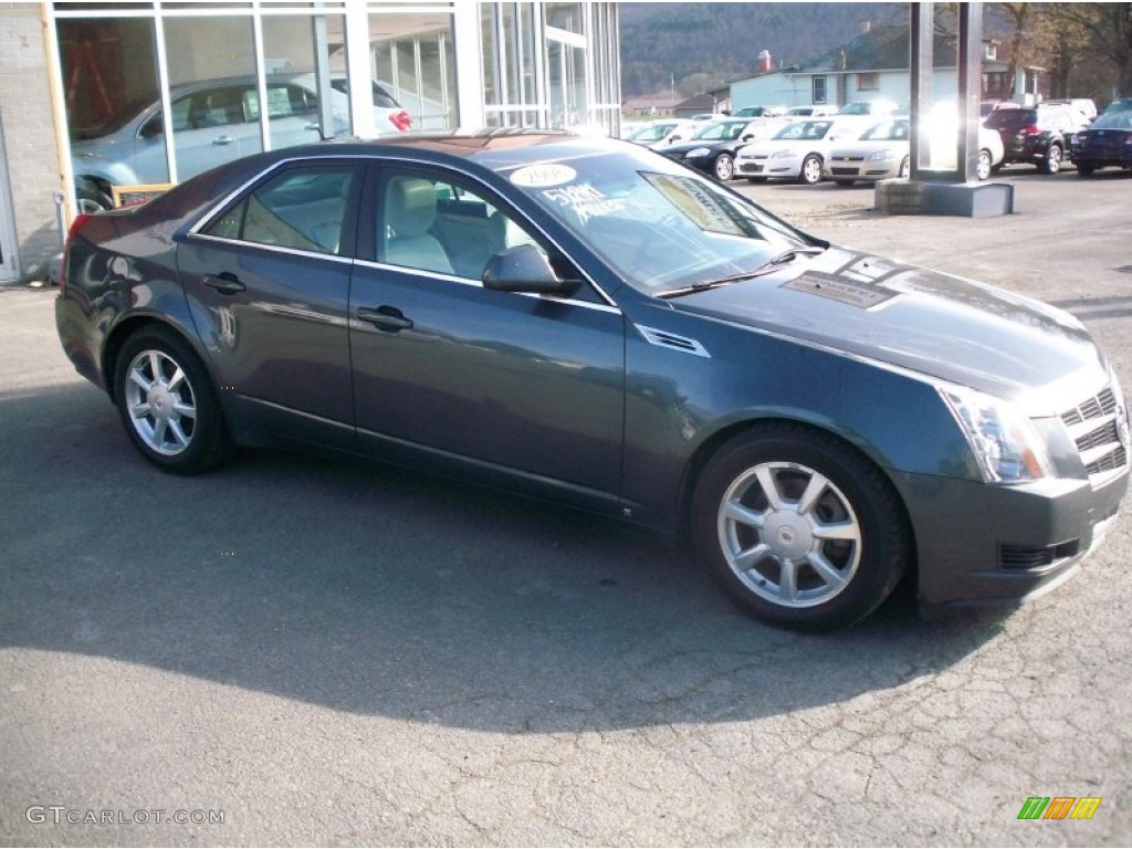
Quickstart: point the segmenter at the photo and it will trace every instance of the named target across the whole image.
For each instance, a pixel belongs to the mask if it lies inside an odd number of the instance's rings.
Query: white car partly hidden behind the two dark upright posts
[[[958,127],[954,118],[933,115],[927,125],[927,166],[954,170]],[[890,118],[873,125],[859,139],[835,145],[825,160],[823,171],[838,186],[852,186],[858,180],[876,181],[907,178],[911,171],[911,122],[908,118]],[[994,130],[979,126],[976,177],[986,180],[990,169],[1002,162],[1002,139]]]

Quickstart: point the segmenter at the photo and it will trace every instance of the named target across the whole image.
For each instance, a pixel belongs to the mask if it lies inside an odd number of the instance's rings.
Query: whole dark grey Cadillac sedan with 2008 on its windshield
[[[691,540],[783,627],[854,623],[903,576],[1017,604],[1127,488],[1121,389],[1073,317],[626,142],[233,162],[77,220],[57,323],[158,469],[249,445],[461,474]]]

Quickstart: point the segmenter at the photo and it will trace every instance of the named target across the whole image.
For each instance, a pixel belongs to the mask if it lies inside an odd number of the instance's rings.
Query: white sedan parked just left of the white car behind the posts
[[[772,138],[741,148],[735,158],[735,173],[752,182],[796,180],[812,186],[822,179],[831,146],[857,138],[866,126],[859,119],[834,117],[791,121]]]

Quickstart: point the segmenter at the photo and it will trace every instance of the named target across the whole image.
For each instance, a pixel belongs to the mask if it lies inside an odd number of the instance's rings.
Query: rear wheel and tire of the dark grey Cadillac
[[[126,341],[114,368],[114,402],[134,445],[162,471],[196,474],[231,453],[213,381],[172,331],[144,327]]]

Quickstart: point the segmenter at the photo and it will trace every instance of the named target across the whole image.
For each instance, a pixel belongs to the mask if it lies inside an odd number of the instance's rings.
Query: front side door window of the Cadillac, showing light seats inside
[[[379,261],[478,281],[500,250],[534,245],[546,255],[514,216],[466,186],[394,171],[379,197]]]

